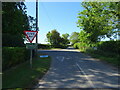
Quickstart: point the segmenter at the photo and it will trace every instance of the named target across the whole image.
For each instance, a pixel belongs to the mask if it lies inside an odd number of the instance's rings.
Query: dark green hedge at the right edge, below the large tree
[[[120,41],[104,41],[98,44],[98,50],[120,53]]]

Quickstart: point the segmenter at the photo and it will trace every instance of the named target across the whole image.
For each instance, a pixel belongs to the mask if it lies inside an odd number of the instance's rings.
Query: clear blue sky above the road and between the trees
[[[25,2],[25,5],[27,14],[36,17],[36,2]],[[81,2],[38,2],[38,43],[47,43],[46,34],[53,29],[60,35],[80,32],[76,23],[78,13],[83,10]]]

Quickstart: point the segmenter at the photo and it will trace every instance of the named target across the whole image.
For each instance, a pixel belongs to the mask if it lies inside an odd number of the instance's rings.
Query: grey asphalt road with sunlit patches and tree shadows
[[[39,50],[52,57],[36,88],[120,88],[117,69],[74,49]]]

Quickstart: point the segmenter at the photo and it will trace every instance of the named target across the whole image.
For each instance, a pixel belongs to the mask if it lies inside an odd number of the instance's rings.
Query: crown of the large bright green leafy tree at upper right
[[[97,42],[101,38],[104,38],[105,35],[110,38],[114,34],[118,23],[115,24],[114,22],[117,16],[113,16],[110,4],[108,2],[82,3],[85,10],[79,13],[77,24],[78,27],[90,34],[89,39],[91,42]],[[117,11],[113,10],[113,12]]]

